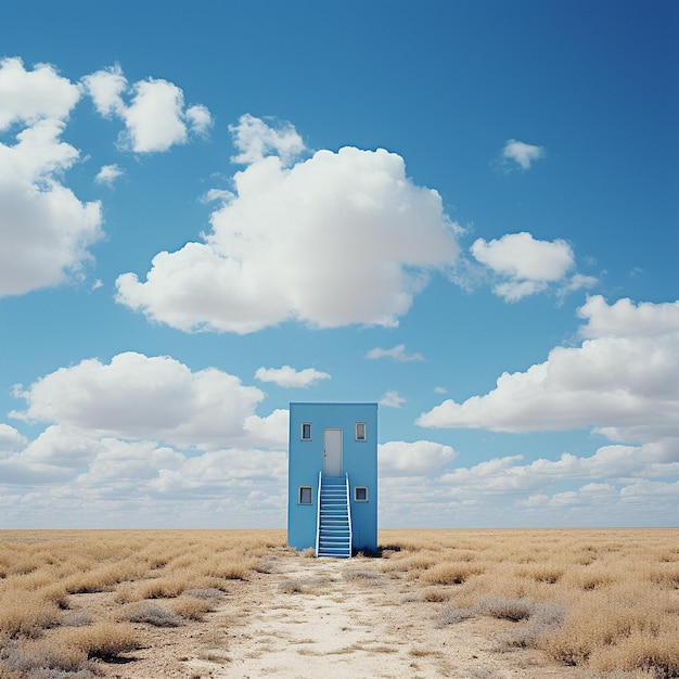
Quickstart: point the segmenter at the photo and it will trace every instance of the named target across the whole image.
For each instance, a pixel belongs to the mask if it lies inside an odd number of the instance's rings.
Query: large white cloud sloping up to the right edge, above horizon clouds
[[[576,347],[555,347],[526,372],[504,373],[495,389],[462,403],[448,399],[418,419],[421,426],[497,432],[592,426],[611,440],[679,439],[679,304],[610,306],[594,296]]]

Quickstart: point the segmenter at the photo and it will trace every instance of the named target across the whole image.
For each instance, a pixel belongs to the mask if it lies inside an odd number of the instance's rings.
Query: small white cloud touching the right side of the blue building
[[[450,447],[430,440],[394,440],[379,447],[380,476],[428,476],[458,457]]]

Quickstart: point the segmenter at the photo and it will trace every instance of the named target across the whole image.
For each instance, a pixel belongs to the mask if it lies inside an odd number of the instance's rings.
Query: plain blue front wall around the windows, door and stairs
[[[302,440],[302,424],[311,439]],[[366,423],[366,440],[356,440],[356,423]],[[351,546],[377,549],[377,403],[291,403],[287,463],[287,545],[316,547],[318,477],[323,469],[323,431],[343,431],[342,474],[349,475]],[[311,486],[311,504],[298,503],[299,486]],[[356,502],[354,488],[368,487],[368,502]]]

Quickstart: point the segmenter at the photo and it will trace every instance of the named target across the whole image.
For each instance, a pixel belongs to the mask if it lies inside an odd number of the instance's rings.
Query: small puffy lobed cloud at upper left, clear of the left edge
[[[102,116],[124,121],[120,145],[134,153],[167,151],[185,143],[189,131],[204,136],[213,124],[204,105],[184,106],[183,91],[174,82],[148,78],[129,85],[117,64],[85,76],[82,87]]]

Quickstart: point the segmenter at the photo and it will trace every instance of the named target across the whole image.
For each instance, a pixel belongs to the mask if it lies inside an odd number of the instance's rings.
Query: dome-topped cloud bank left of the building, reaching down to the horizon
[[[202,527],[210,515],[231,526],[284,520],[289,412],[258,415],[264,394],[233,375],[126,353],[17,385],[15,396],[27,407],[11,417],[48,426],[28,440],[0,424],[10,525],[26,525],[27,507],[42,527],[101,526],[112,511],[117,526],[140,525],[140,516],[175,527],[194,515]],[[165,502],[172,511],[164,524]]]

